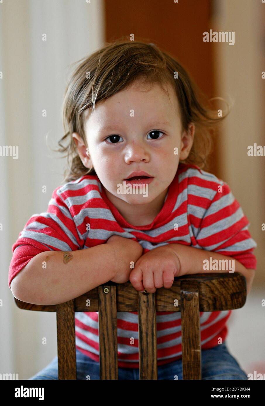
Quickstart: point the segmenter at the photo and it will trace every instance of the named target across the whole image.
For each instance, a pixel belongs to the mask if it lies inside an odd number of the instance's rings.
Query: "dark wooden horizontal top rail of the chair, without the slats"
[[[180,302],[180,282],[182,280],[198,281],[200,311],[220,311],[239,309],[246,300],[245,277],[239,272],[223,274],[193,274],[174,278],[170,289],[156,289],[156,311],[180,311],[174,305]],[[138,292],[130,282],[122,285],[108,282],[106,285],[117,287],[117,311],[138,311]],[[39,305],[21,302],[14,297],[20,309],[33,311],[56,311],[56,305]],[[88,306],[89,304],[89,306]],[[75,311],[98,311],[98,288],[74,299]]]

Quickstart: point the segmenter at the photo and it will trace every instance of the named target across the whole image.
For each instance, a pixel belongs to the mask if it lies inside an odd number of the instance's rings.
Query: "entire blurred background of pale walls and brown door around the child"
[[[0,145],[18,145],[19,159],[0,157],[0,372],[28,379],[56,356],[56,315],[22,311],[7,284],[11,246],[34,213],[46,211],[62,184],[64,160],[46,147],[63,135],[61,104],[69,65],[122,36],[146,39],[174,55],[208,97],[234,99],[215,136],[209,172],[230,186],[258,244],[252,291],[229,320],[228,347],[246,373],[264,367],[265,4],[249,0],[9,0],[0,3]],[[234,31],[235,45],[204,43],[204,31]],[[42,41],[42,35],[47,40]],[[224,104],[215,108],[224,108]],[[47,116],[43,117],[43,110]],[[47,192],[42,192],[42,186]],[[42,344],[47,337],[47,344]],[[240,337],[240,340],[239,340]],[[259,368],[259,369],[257,369]]]

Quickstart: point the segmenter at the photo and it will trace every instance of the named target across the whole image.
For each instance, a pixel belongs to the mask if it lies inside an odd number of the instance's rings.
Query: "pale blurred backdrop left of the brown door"
[[[0,145],[18,146],[18,159],[0,156],[0,373],[18,373],[19,379],[57,355],[56,315],[16,307],[7,280],[11,246],[63,184],[66,158],[56,159],[46,134],[52,148],[63,136],[69,66],[104,44],[103,7],[103,0],[0,2]]]

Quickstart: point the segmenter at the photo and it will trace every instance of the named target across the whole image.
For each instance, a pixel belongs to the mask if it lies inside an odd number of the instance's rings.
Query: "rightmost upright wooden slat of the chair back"
[[[182,281],[180,298],[183,379],[202,379],[198,282]]]

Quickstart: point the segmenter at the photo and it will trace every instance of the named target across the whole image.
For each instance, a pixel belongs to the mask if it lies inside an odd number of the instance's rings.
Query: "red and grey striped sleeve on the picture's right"
[[[233,257],[245,268],[256,269],[253,250],[257,244],[248,231],[248,218],[229,186],[224,181],[219,185],[222,185],[222,190],[217,188],[200,220],[195,236],[198,248]]]

